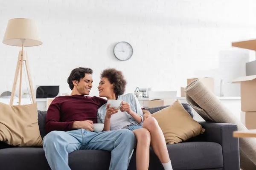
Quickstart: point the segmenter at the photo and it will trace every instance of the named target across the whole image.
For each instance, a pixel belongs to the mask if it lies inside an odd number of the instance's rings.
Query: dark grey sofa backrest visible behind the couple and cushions
[[[190,114],[190,116],[192,116],[192,118],[193,118],[194,115],[193,115],[193,112],[192,112],[192,107],[187,103],[182,103],[182,105],[186,109],[186,111]],[[147,108],[146,110],[148,110],[152,114],[152,113],[160,111],[161,109],[166,108],[166,107],[168,107],[168,106],[161,106],[161,107],[156,107],[156,108]],[[46,114],[47,114],[47,111],[38,111],[38,125],[39,125],[39,130],[40,130],[40,134],[41,134],[42,139],[47,134],[46,130],[45,130]]]

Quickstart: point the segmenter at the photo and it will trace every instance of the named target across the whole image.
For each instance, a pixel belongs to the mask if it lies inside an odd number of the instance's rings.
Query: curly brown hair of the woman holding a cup
[[[100,74],[100,78],[103,77],[107,78],[108,81],[113,84],[113,90],[116,94],[116,99],[119,95],[122,95],[125,93],[125,87],[126,87],[126,80],[122,74],[122,71],[118,71],[115,68],[108,68],[102,71],[102,74]]]

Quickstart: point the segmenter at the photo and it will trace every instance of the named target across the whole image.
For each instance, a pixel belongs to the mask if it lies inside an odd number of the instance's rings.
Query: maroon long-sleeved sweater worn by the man
[[[97,110],[107,100],[84,95],[58,96],[49,105],[46,116],[46,131],[73,130],[73,122],[91,120],[97,123]]]

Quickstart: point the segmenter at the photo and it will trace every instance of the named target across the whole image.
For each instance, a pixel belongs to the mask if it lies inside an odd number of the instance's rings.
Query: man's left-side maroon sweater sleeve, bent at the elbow
[[[46,131],[47,133],[53,130],[68,131],[73,129],[73,122],[60,122],[61,107],[58,98],[55,98],[47,110],[46,115]]]

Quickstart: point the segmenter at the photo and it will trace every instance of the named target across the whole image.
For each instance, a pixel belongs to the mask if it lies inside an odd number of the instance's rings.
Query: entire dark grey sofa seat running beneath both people
[[[168,144],[168,152],[175,170],[200,170],[223,167],[221,145],[213,142],[184,142]],[[69,154],[72,170],[108,170],[111,152],[77,150]],[[135,152],[128,170],[136,169]],[[100,162],[100,163],[99,163]],[[149,170],[161,170],[162,164],[150,148]],[[41,147],[13,147],[0,149],[0,169],[50,170]],[[163,168],[162,168],[163,170]]]

